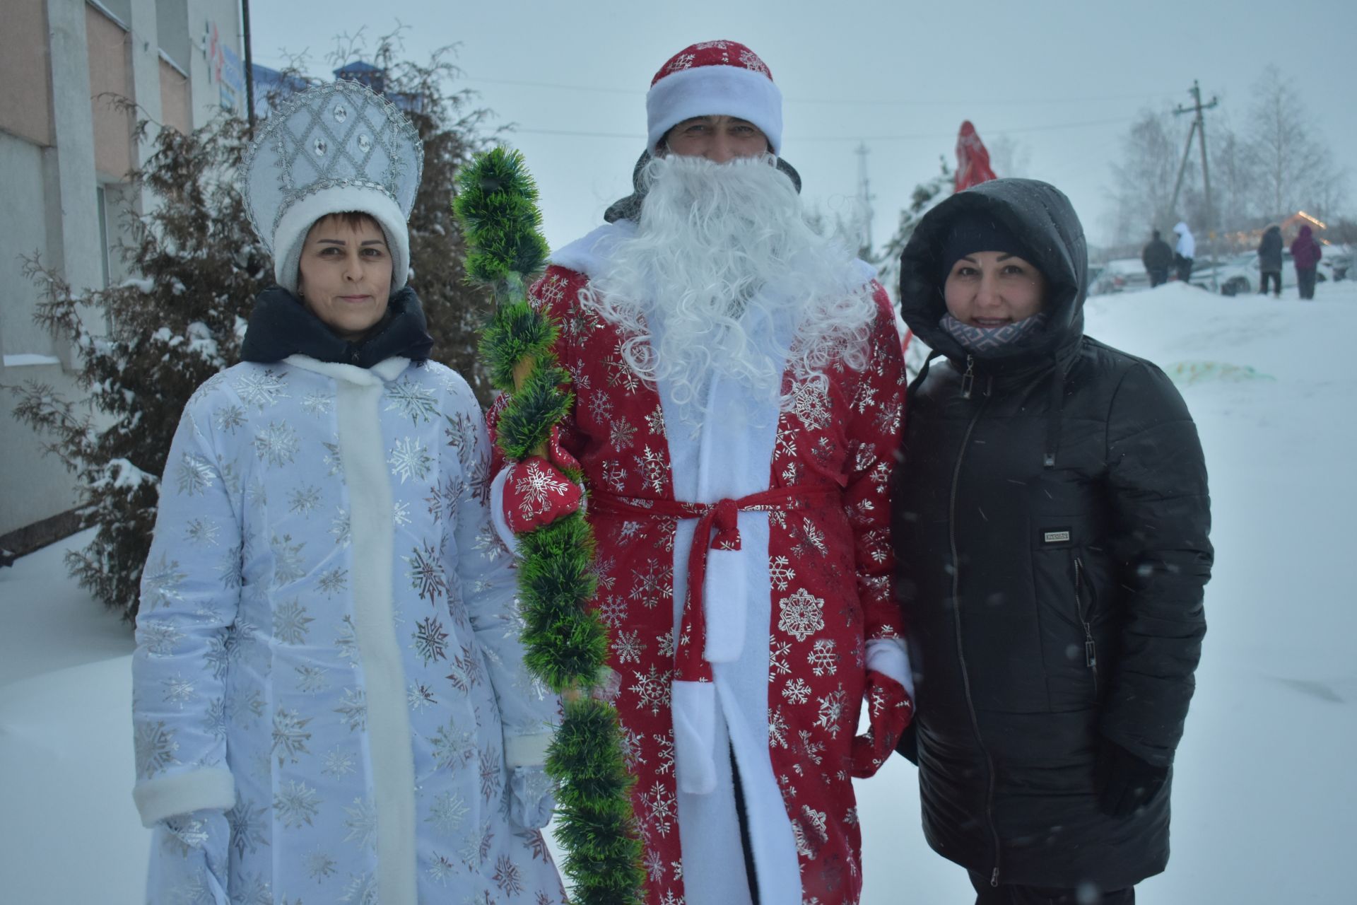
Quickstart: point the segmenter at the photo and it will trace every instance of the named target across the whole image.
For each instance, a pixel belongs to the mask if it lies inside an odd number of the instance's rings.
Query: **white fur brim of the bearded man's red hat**
[[[693,117],[735,117],[759,126],[773,153],[782,152],[782,91],[772,79],[741,66],[693,66],[672,72],[646,94],[650,153],[665,133]]]

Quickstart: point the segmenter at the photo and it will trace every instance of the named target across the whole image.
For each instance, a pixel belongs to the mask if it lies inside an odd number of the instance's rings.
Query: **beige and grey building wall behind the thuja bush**
[[[34,323],[41,293],[23,275],[20,255],[39,255],[76,290],[132,275],[110,248],[126,229],[125,214],[157,201],[129,186],[126,174],[149,157],[155,123],[194,129],[221,111],[224,98],[235,99],[218,73],[223,60],[240,54],[239,7],[235,0],[5,0],[4,7],[0,387],[35,381],[80,402],[75,350]],[[136,114],[110,104],[109,94],[134,102]],[[237,109],[244,110],[243,96]],[[133,136],[138,117],[153,123],[141,141]],[[99,311],[84,315],[100,326]],[[42,438],[11,414],[14,400],[0,389],[0,540],[56,524],[77,499],[73,476],[43,457]]]

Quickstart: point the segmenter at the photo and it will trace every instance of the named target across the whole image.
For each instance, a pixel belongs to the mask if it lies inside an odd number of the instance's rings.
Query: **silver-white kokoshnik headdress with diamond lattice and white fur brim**
[[[244,160],[246,210],[273,252],[278,285],[297,292],[301,246],[316,220],[360,212],[381,224],[391,286],[404,286],[406,221],[422,171],[419,133],[389,100],[343,80],[293,95],[265,121]]]

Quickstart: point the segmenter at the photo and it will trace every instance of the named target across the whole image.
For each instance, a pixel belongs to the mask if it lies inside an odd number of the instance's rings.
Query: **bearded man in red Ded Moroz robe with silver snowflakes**
[[[574,379],[551,457],[585,474],[647,901],[858,902],[851,780],[913,712],[889,578],[894,317],[807,224],[752,50],[685,47],[646,111],[635,194],[531,296]],[[502,529],[579,497],[543,459],[494,487]]]

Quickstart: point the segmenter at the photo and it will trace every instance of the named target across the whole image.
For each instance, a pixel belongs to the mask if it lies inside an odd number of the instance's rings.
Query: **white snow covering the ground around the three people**
[[[1177,376],[1210,468],[1216,577],[1177,764],[1174,855],[1139,901],[1353,901],[1357,284],[1324,284],[1304,304],[1293,289],[1273,301],[1170,284],[1092,299],[1087,328]],[[62,550],[80,543],[0,570],[5,902],[141,901],[132,639],[65,577]],[[923,841],[908,763],[893,758],[859,799],[864,905],[972,901],[965,872]]]

